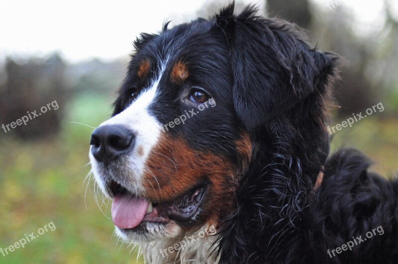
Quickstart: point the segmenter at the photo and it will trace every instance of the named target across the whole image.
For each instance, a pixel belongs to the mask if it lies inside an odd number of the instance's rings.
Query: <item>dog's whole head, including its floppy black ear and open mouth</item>
[[[256,197],[282,193],[294,204],[308,193],[328,152],[330,54],[252,7],[234,15],[233,4],[134,44],[113,116],[93,132],[90,151],[121,236],[176,237],[222,226]],[[277,183],[279,174],[287,179]]]

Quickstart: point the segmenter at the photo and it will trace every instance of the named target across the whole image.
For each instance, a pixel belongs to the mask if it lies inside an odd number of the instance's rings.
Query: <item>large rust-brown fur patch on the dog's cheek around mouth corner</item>
[[[170,201],[208,180],[201,223],[216,223],[232,208],[236,166],[226,158],[192,149],[185,140],[161,135],[146,162],[144,187],[153,202]],[[155,178],[156,177],[156,178]]]

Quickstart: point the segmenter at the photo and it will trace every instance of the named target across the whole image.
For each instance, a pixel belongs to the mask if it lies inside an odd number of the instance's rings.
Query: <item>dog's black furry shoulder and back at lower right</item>
[[[307,263],[393,263],[391,256],[396,247],[393,241],[398,236],[395,228],[398,180],[371,172],[371,165],[369,158],[354,149],[341,149],[326,160],[322,184],[300,221],[302,240],[293,243],[291,249],[296,250],[291,250],[288,256],[298,254],[302,244],[322,241],[307,248],[310,250],[300,260]],[[365,238],[365,234],[375,232],[376,228],[383,230],[382,238],[369,239],[350,251],[335,257],[331,255],[333,258],[326,254],[327,250],[341,247],[355,238]]]

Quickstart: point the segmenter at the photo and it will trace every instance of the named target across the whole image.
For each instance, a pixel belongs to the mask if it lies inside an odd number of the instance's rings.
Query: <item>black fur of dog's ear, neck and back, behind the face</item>
[[[232,6],[217,23],[231,49],[235,109],[258,151],[219,232],[221,263],[396,263],[397,181],[368,173],[355,150],[325,161],[324,107],[338,57],[310,49],[286,22],[251,7],[236,16]],[[383,236],[329,257],[328,249],[380,225]]]

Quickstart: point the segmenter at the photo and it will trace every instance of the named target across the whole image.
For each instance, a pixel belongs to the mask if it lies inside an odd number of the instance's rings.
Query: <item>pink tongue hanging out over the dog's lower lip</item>
[[[134,228],[144,219],[149,202],[128,194],[116,194],[112,202],[112,221],[118,228]]]

